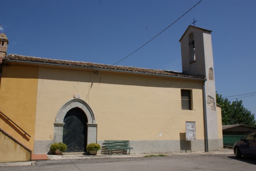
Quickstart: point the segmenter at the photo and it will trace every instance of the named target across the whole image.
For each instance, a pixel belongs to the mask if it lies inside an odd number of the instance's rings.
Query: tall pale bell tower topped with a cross
[[[182,38],[182,72],[192,76],[204,76],[203,86],[205,115],[205,150],[218,151],[218,121],[216,109],[216,91],[214,78],[214,62],[210,30],[189,26]],[[208,148],[209,147],[209,148]]]

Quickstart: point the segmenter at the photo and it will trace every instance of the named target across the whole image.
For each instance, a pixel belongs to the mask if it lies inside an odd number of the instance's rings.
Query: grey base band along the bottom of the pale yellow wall
[[[35,140],[34,153],[47,154],[50,152],[50,146],[53,141],[51,140]],[[98,144],[102,147],[103,140],[98,140]],[[205,140],[198,139],[191,141],[186,140],[131,140],[130,153],[188,153],[188,152],[204,152]],[[209,139],[209,151],[219,151],[223,148],[223,139]],[[98,153],[107,153],[105,148],[102,148]]]

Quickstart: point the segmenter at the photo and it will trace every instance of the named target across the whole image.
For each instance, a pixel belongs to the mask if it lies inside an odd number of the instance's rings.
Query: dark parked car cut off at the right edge
[[[233,145],[233,150],[237,158],[242,156],[256,157],[256,130],[241,138],[240,141],[237,141]]]

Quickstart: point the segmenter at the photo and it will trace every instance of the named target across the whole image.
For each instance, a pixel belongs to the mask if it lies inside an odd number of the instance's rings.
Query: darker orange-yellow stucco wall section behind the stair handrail
[[[31,137],[0,117],[1,129],[33,151],[37,100],[37,67],[3,66],[0,85],[0,111]]]

